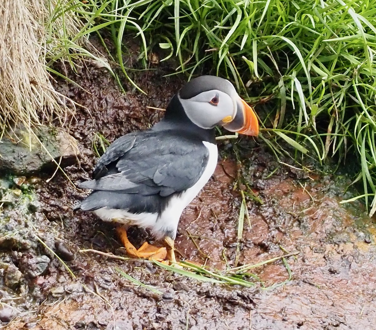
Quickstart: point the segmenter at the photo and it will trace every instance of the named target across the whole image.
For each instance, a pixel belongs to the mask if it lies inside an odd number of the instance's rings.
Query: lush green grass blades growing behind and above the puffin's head
[[[376,1],[92,1],[71,0],[86,21],[77,36],[106,29],[124,62],[126,35],[139,59],[160,50],[176,73],[228,77],[255,104],[260,140],[277,158],[304,165],[328,157],[362,182],[376,210]],[[77,38],[75,38],[76,40]],[[133,82],[132,82],[133,83]],[[135,85],[133,83],[133,85]],[[286,142],[295,151],[286,150]]]

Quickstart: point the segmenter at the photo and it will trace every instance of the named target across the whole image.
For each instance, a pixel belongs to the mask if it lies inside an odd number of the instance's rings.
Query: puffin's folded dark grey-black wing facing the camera
[[[103,154],[94,170],[96,179],[80,188],[164,197],[192,187],[208,164],[209,150],[202,141],[177,135],[126,136]]]

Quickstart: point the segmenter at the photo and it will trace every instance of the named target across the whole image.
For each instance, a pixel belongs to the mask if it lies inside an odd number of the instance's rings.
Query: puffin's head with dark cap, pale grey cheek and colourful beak
[[[190,121],[203,129],[221,125],[231,132],[258,135],[255,112],[226,79],[197,77],[180,89],[177,97]]]

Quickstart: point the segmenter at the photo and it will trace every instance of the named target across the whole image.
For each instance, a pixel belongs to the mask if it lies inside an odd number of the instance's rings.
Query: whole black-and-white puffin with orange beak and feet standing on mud
[[[218,161],[215,126],[257,136],[258,119],[229,80],[200,76],[171,99],[164,118],[149,129],[115,140],[96,163],[92,189],[74,209],[118,223],[130,256],[176,263],[174,239],[180,216],[208,182]],[[135,248],[127,228],[149,229],[162,247],[145,242]]]

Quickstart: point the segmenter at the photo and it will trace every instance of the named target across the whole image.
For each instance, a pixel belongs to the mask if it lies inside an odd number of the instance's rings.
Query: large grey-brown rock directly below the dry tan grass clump
[[[41,170],[55,170],[56,164],[52,159],[58,163],[61,159],[61,167],[76,162],[79,156],[77,141],[63,129],[42,126],[35,131],[35,135],[39,141],[34,135],[30,138],[28,130],[20,126],[15,133],[9,133],[9,137],[3,137],[0,143],[0,173],[31,176]],[[16,181],[17,186],[22,185],[22,178]]]

